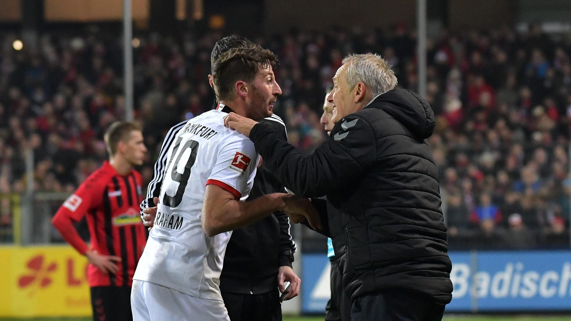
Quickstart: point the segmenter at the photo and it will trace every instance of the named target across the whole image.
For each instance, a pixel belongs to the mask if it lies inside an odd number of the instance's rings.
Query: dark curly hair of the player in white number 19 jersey
[[[220,100],[231,99],[238,80],[252,82],[260,68],[274,67],[276,63],[276,55],[257,44],[223,52],[212,64],[212,78]]]

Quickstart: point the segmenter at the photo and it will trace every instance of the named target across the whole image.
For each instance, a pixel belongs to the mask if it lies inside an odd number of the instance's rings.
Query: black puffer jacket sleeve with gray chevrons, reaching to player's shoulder
[[[297,196],[320,197],[351,184],[371,168],[376,156],[373,130],[360,117],[344,117],[331,135],[307,157],[265,123],[252,128],[250,139],[288,189]]]

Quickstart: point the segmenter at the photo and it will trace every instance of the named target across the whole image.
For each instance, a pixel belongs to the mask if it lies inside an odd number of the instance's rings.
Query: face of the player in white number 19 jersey
[[[273,103],[282,95],[282,88],[276,83],[272,66],[260,68],[250,86],[252,91],[248,93],[248,118],[258,120],[270,117],[274,113]]]

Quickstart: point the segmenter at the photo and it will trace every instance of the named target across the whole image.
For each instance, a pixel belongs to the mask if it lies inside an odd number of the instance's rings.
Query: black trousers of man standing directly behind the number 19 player
[[[222,292],[230,321],[282,321],[282,304],[278,290],[264,294]]]

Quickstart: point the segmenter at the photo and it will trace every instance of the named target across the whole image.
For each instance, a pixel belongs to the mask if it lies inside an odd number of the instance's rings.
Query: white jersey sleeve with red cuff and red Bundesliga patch
[[[251,140],[242,135],[230,136],[218,149],[206,185],[220,186],[238,198],[247,196],[254,184],[258,162],[259,155]]]

